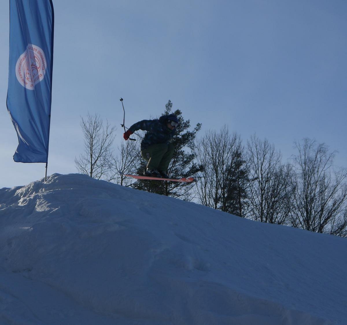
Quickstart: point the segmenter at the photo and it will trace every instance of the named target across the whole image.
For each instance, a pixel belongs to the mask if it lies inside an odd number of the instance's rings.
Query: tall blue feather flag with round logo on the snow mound
[[[16,162],[48,161],[53,26],[51,0],[10,0],[6,104],[18,135]]]

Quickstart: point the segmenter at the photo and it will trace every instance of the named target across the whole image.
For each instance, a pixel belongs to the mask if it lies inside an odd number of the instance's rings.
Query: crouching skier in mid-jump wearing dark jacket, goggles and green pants
[[[128,140],[137,130],[147,131],[141,142],[141,155],[148,161],[146,176],[168,178],[167,170],[175,148],[170,140],[174,137],[179,125],[175,114],[164,115],[159,120],[139,121],[124,132]]]

